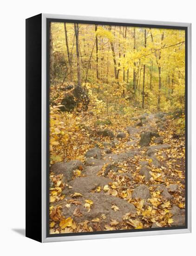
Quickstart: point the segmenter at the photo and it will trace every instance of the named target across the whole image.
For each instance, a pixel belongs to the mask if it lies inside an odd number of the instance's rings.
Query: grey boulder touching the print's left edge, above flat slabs
[[[70,182],[73,177],[73,171],[84,168],[84,164],[79,160],[71,160],[69,162],[58,162],[52,164],[50,170],[55,174],[63,174],[65,182]]]

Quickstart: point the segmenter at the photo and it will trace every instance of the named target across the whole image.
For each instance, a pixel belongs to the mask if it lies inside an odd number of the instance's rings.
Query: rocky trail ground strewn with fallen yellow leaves
[[[82,157],[50,169],[50,234],[185,225],[185,144],[172,123],[159,112],[84,128]]]

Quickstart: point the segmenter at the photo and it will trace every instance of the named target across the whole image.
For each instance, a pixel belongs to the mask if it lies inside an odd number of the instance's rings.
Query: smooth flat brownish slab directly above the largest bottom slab
[[[69,182],[69,186],[72,188],[69,189],[68,187],[65,187],[63,190],[63,194],[65,195],[71,195],[76,193],[80,194],[86,194],[88,192],[91,192],[92,190],[96,189],[97,187],[104,187],[108,183],[112,182],[111,179],[100,177],[96,175],[90,175],[86,177],[78,177]]]

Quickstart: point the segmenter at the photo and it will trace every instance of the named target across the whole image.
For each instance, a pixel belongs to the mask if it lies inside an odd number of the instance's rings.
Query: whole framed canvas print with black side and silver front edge
[[[26,20],[26,236],[191,231],[191,24]]]

